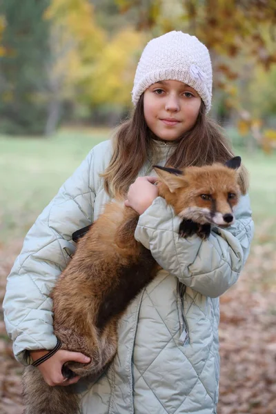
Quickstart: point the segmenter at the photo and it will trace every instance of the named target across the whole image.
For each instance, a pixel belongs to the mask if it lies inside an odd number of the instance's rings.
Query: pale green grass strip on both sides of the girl
[[[0,137],[0,242],[23,237],[59,187],[108,130],[61,130],[52,138]],[[261,242],[276,242],[276,154],[242,156]]]

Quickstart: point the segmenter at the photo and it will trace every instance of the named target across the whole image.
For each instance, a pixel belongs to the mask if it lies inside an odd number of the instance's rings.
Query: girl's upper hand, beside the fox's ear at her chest
[[[133,208],[139,215],[143,214],[158,197],[157,187],[153,185],[156,181],[157,177],[137,177],[128,190],[125,206]]]

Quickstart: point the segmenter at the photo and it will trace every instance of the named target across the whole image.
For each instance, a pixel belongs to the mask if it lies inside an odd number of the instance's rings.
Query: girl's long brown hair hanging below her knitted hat
[[[154,138],[157,137],[149,130],[144,118],[143,94],[130,119],[119,126],[112,138],[113,155],[108,168],[101,175],[110,197],[126,197],[130,184],[135,181],[149,155],[154,164]],[[223,130],[215,121],[206,117],[203,101],[195,125],[184,132],[177,142],[175,151],[166,162],[166,165],[175,168],[224,163],[234,156]],[[240,170],[239,185],[245,194],[248,189],[248,174],[244,166]]]

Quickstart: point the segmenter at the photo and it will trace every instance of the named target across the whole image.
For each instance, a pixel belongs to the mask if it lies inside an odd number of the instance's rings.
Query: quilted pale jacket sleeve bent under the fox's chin
[[[218,297],[235,284],[248,257],[253,238],[248,195],[240,200],[235,217],[227,230],[214,227],[206,241],[197,235],[184,239],[178,235],[181,219],[157,197],[139,217],[135,239],[180,282],[202,295]]]

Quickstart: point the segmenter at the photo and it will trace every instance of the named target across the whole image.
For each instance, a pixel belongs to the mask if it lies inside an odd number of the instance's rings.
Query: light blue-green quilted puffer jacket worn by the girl
[[[170,147],[161,148],[164,165]],[[14,355],[52,349],[49,293],[75,251],[72,233],[97,219],[109,200],[103,172],[110,141],[92,149],[43,210],[8,277],[3,302]],[[149,161],[139,175],[154,174]],[[248,196],[227,230],[208,240],[178,237],[180,219],[161,197],[139,218],[135,238],[162,266],[119,323],[117,355],[95,383],[81,380],[82,414],[214,414],[219,384],[219,295],[232,286],[248,257],[253,221]],[[70,300],[70,298],[68,298]]]

